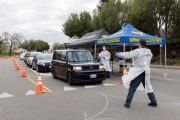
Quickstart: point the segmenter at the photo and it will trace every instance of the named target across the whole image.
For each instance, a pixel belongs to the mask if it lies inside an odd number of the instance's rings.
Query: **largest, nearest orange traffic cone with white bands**
[[[40,73],[38,73],[38,82],[37,82],[37,85],[36,85],[36,91],[35,91],[36,94],[39,94],[39,93],[45,93],[44,89],[43,89],[43,85],[42,85],[42,80],[41,80],[41,75]]]

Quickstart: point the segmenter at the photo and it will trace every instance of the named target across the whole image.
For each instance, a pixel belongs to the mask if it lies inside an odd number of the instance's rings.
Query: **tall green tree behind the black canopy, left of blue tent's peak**
[[[123,4],[120,0],[109,0],[97,6],[93,11],[91,25],[95,30],[105,29],[109,33],[115,33],[122,27]]]

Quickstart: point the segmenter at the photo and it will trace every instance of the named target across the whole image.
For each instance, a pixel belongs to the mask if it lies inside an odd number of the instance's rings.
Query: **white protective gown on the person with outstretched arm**
[[[122,58],[132,58],[133,66],[129,69],[128,75],[122,76],[123,84],[129,88],[131,81],[145,71],[145,91],[153,92],[150,84],[150,61],[152,53],[150,49],[138,48],[130,52],[120,52]],[[138,90],[144,90],[142,83],[138,86]]]

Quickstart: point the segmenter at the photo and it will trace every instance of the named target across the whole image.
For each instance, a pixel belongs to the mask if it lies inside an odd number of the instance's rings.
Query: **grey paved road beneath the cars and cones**
[[[180,119],[180,70],[168,70],[168,78],[162,78],[163,69],[151,69],[158,107],[147,106],[147,95],[137,91],[127,109],[123,105],[128,90],[119,84],[118,74],[102,84],[69,86],[66,81],[52,79],[48,72],[42,73],[46,93],[32,94],[38,78],[35,71],[26,67],[28,77],[22,78],[11,60],[1,60],[0,66],[0,120]],[[118,71],[118,66],[114,68]]]

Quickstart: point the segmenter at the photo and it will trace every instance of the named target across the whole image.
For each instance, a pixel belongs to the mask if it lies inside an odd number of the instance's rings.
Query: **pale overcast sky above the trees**
[[[99,0],[0,0],[0,33],[22,33],[26,39],[41,39],[51,46],[68,42],[62,24],[71,13],[92,11]]]

